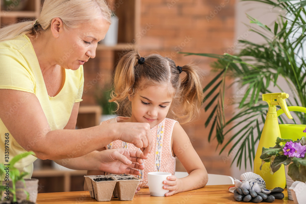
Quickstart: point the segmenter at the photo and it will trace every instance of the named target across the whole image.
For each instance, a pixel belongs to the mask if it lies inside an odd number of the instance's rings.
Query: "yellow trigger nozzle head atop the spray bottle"
[[[263,94],[263,101],[266,101],[269,107],[275,107],[276,105],[281,106],[282,110],[286,114],[289,119],[292,119],[287,103],[286,98],[289,98],[289,94],[286,93],[271,93],[271,94]]]

